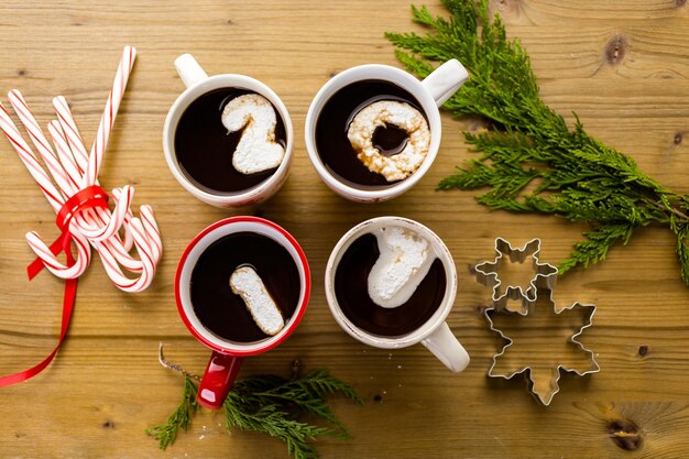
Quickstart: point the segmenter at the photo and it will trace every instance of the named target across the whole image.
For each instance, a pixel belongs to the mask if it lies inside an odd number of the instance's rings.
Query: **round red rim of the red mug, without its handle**
[[[211,233],[212,231],[229,226],[229,225],[233,225],[233,223],[239,223],[239,222],[247,222],[247,223],[258,223],[258,225],[262,225],[262,226],[267,226],[271,229],[277,231],[281,236],[283,236],[292,245],[292,248],[295,250],[298,259],[299,259],[299,263],[303,267],[304,271],[304,280],[303,280],[303,284],[304,284],[304,295],[299,302],[299,304],[297,305],[294,314],[292,315],[292,317],[289,318],[288,323],[285,325],[285,328],[283,330],[281,330],[278,332],[278,335],[276,335],[275,337],[270,337],[267,339],[265,339],[265,343],[264,346],[256,346],[255,341],[252,341],[251,343],[237,343],[237,342],[232,342],[229,341],[225,338],[218,337],[218,340],[222,341],[223,345],[226,346],[219,346],[218,343],[209,340],[206,336],[204,336],[204,334],[201,334],[192,323],[192,320],[188,317],[187,310],[185,309],[184,306],[184,300],[182,298],[182,274],[184,271],[184,267],[186,266],[187,260],[189,258],[189,254],[192,253],[192,251],[194,250],[194,248],[201,242],[209,233]],[[227,236],[227,234],[225,234]],[[219,239],[219,238],[218,238]],[[215,242],[215,239],[212,242]],[[278,242],[280,243],[280,242]],[[193,267],[192,267],[193,270]],[[296,239],[284,228],[282,228],[280,225],[274,223],[271,220],[266,220],[264,218],[260,218],[260,217],[253,217],[253,216],[234,216],[234,217],[228,217],[225,218],[222,220],[216,221],[215,223],[209,225],[208,227],[206,227],[204,230],[201,230],[198,234],[196,234],[192,241],[187,244],[187,247],[185,248],[182,256],[179,258],[179,262],[177,264],[177,270],[175,272],[175,284],[174,284],[174,288],[175,288],[175,302],[177,304],[177,312],[179,313],[179,316],[182,318],[182,321],[184,323],[184,325],[187,327],[187,329],[189,330],[189,332],[192,332],[192,335],[199,340],[201,343],[204,343],[206,347],[210,348],[211,350],[215,350],[217,352],[227,354],[227,356],[234,356],[234,357],[248,357],[248,356],[255,356],[265,351],[269,351],[271,349],[273,349],[274,347],[276,347],[277,345],[282,343],[284,340],[286,340],[296,329],[296,327],[299,325],[299,323],[302,321],[302,318],[304,317],[304,314],[306,313],[306,307],[308,306],[308,302],[310,298],[310,289],[311,289],[311,277],[310,277],[310,269],[308,266],[308,261],[306,259],[306,254],[304,253],[304,250],[302,249],[302,247],[299,245],[299,243],[296,241]],[[188,286],[186,286],[186,288],[189,288]],[[193,307],[193,306],[192,306]],[[199,320],[200,324],[200,320]],[[203,326],[203,324],[201,324]],[[260,342],[260,341],[259,341]],[[253,347],[252,349],[247,349],[247,347]]]

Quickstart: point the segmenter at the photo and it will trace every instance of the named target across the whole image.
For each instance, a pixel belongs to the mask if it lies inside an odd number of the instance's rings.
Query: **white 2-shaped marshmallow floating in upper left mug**
[[[222,124],[229,132],[242,131],[232,154],[232,166],[242,174],[277,167],[285,149],[275,142],[277,118],[272,103],[258,94],[236,97],[225,106]]]

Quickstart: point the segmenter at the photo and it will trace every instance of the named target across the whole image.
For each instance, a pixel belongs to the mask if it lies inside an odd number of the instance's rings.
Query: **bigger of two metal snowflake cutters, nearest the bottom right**
[[[514,337],[507,336],[504,331],[504,328],[499,328],[495,325],[494,316],[499,315],[501,317],[507,317],[507,318],[511,317],[513,320],[516,320],[516,321],[528,320],[529,314],[534,313],[534,308],[537,307],[536,306],[537,303],[548,303],[548,306],[551,308],[556,317],[559,317],[560,315],[565,315],[567,314],[567,312],[572,312],[576,308],[584,309],[583,310],[583,317],[584,317],[583,325],[578,326],[575,332],[567,337],[567,341],[566,341],[568,345],[572,347],[570,352],[572,350],[578,352],[580,362],[578,363],[577,362],[575,363],[558,362],[556,365],[550,365],[548,368],[545,368],[542,364],[524,364],[524,365],[516,365],[516,368],[511,368],[507,371],[501,370],[501,360],[504,359],[505,354],[508,352],[508,349],[515,346],[516,340],[514,339]],[[528,383],[529,383],[528,391],[534,396],[534,398],[536,398],[536,401],[540,402],[543,405],[548,406],[550,402],[553,402],[553,398],[555,397],[555,395],[560,391],[559,381],[562,375],[562,371],[568,372],[568,373],[575,373],[578,376],[598,373],[600,371],[600,365],[595,361],[593,351],[586,348],[583,343],[579,341],[578,339],[581,336],[581,334],[583,334],[583,330],[586,330],[587,328],[593,325],[593,315],[595,314],[597,307],[595,305],[592,305],[592,304],[573,303],[569,307],[557,310],[555,300],[553,300],[551,291],[550,291],[550,295],[546,297],[546,300],[544,302],[537,300],[534,303],[529,303],[529,305],[528,306],[525,305],[525,307],[528,307],[527,315],[522,315],[520,312],[497,310],[495,308],[488,308],[483,312],[485,319],[490,324],[491,331],[496,332],[497,335],[500,335],[502,339],[506,341],[506,343],[503,345],[500,352],[493,356],[493,362],[491,364],[491,368],[488,371],[488,375],[490,378],[502,378],[508,381],[517,374],[524,374],[524,376],[527,378]],[[544,347],[543,345],[537,345],[534,342],[532,343],[532,346],[535,347],[536,349],[543,349],[543,348],[545,348],[546,350],[549,349],[548,347]],[[510,368],[508,364],[507,364],[507,368]],[[543,378],[540,374],[536,374],[536,373],[544,372],[544,369],[550,372],[549,378]]]

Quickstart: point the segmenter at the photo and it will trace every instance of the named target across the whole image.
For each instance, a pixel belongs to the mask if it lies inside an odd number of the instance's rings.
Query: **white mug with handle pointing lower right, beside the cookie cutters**
[[[426,323],[403,336],[381,336],[352,324],[338,304],[335,292],[335,277],[338,265],[347,249],[361,236],[371,233],[382,227],[402,227],[415,231],[428,240],[442,262],[446,275],[446,288],[442,300]],[[447,368],[460,372],[469,364],[469,354],[459,343],[450,327],[445,321],[452,309],[457,295],[457,271],[452,255],[442,240],[422,223],[402,217],[378,217],[363,221],[350,229],[332,249],[326,266],[326,298],[330,312],[339,326],[359,341],[383,349],[398,349],[420,342],[430,350]]]

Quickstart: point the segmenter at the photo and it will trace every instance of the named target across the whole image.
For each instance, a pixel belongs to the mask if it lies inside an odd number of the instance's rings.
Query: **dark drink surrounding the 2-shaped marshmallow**
[[[242,131],[228,133],[221,114],[230,100],[245,94],[255,92],[239,88],[214,89],[194,100],[179,118],[175,132],[175,155],[179,168],[205,192],[216,195],[242,192],[259,185],[276,171],[275,167],[242,174],[232,166],[232,154]],[[285,124],[277,110],[275,114],[275,141],[285,146]]]

